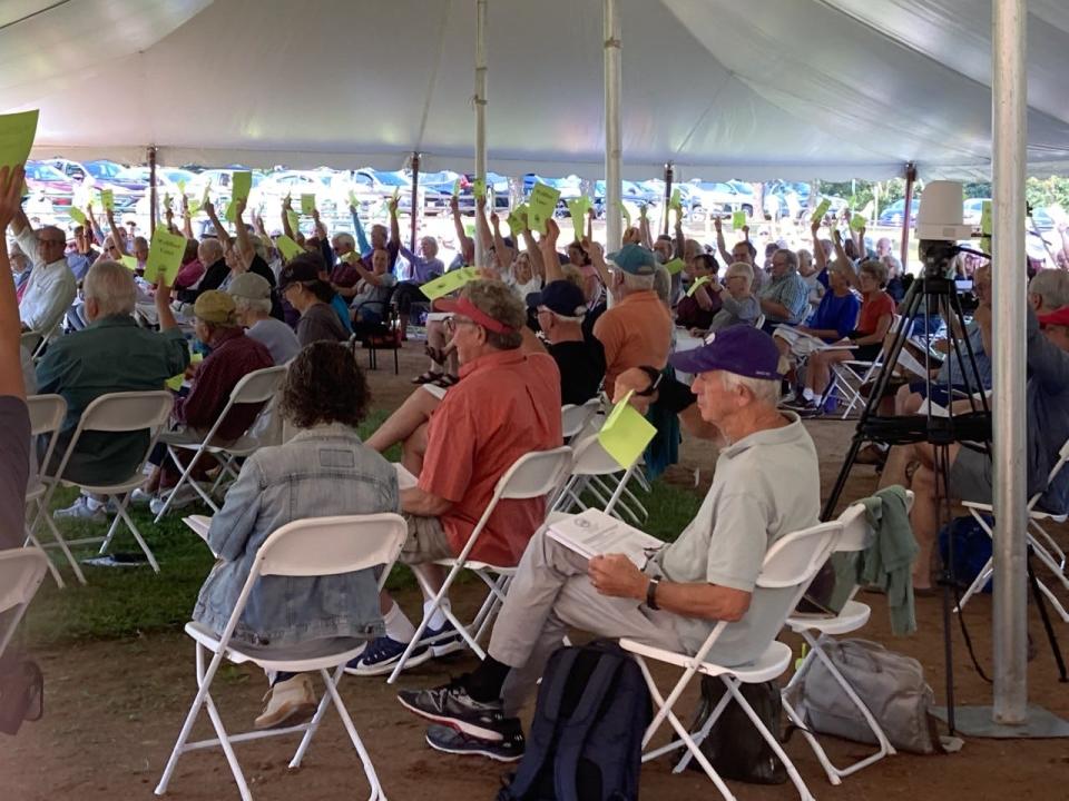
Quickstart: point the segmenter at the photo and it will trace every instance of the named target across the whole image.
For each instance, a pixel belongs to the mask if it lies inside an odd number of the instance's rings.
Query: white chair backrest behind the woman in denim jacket
[[[393,513],[293,521],[267,537],[256,554],[256,565],[262,575],[288,576],[389,567],[401,553],[408,532],[404,518]]]

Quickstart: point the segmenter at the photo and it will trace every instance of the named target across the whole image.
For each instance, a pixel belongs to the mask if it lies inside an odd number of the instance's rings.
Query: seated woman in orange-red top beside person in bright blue
[[[802,415],[817,415],[817,403],[832,380],[832,365],[840,362],[873,362],[883,349],[883,340],[894,320],[894,300],[883,290],[887,268],[882,261],[862,261],[857,274],[861,284],[861,316],[857,329],[833,343],[850,345],[850,349],[817,350],[805,365],[805,386],[802,396],[790,407]]]

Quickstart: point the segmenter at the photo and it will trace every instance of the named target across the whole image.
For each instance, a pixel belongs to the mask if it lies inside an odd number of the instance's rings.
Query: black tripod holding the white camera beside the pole
[[[961,251],[978,253],[962,248],[951,241],[922,241],[921,253],[924,255],[924,271],[910,286],[902,306],[902,323],[894,333],[890,347],[884,348],[884,360],[876,376],[869,398],[861,412],[854,438],[843,463],[835,486],[828,496],[821,514],[823,520],[831,520],[835,506],[846,484],[846,478],[857,458],[857,452],[866,442],[882,442],[887,445],[909,445],[913,443],[929,443],[934,447],[934,468],[936,496],[940,498],[942,515],[951,520],[950,508],[950,446],[954,443],[962,447],[973,447],[991,455],[991,412],[987,396],[983,394],[983,384],[980,380],[980,370],[972,343],[965,335],[965,317],[958,296],[958,287],[951,268],[953,257]],[[985,254],[980,254],[985,256]],[[945,320],[950,335],[947,337],[950,350],[948,359],[955,359],[960,367],[957,380],[953,370],[947,372],[945,380],[940,384],[931,377],[932,349],[931,326],[925,326],[923,338],[916,345],[923,350],[924,384],[928,397],[928,412],[921,416],[884,417],[879,415],[880,402],[887,393],[894,377],[894,368],[899,362],[902,348],[910,339],[910,328],[919,316],[938,314]],[[964,345],[964,348],[962,347]],[[955,386],[957,385],[957,386]],[[948,398],[947,414],[933,414],[933,390],[942,388]],[[963,395],[962,395],[963,393]],[[954,396],[968,398],[969,411],[954,413],[952,404]],[[951,733],[954,731],[954,681],[953,652],[950,636],[952,593],[957,593],[957,582],[953,575],[953,537],[948,537],[949,554],[940,575],[943,587],[943,643],[947,670],[947,712]],[[960,614],[960,611],[959,611]],[[969,642],[968,632],[965,641]],[[969,646],[970,653],[972,651]],[[975,662],[975,659],[973,657]]]

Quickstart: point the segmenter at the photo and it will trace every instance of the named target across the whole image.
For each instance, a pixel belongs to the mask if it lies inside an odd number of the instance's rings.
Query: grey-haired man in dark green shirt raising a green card
[[[159,333],[141,328],[134,320],[137,290],[134,274],[126,266],[98,260],[82,284],[84,313],[88,325],[52,343],[37,366],[38,392],[62,395],[67,417],[56,439],[53,474],[67,452],[78,421],[90,403],[117,392],[161,389],[164,382],[189,364],[186,339],[170,310],[170,289],[156,290]],[[147,431],[87,432],[79,437],[63,477],[87,484],[126,481],[145,457]],[[101,504],[80,495],[73,505],[57,510],[55,517],[104,522]]]

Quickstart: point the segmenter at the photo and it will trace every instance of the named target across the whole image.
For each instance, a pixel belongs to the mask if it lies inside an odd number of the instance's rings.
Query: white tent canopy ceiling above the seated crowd
[[[990,2],[619,1],[626,178],[989,176]],[[16,0],[0,109],[39,157],[470,169],[474,6]],[[1029,168],[1066,171],[1069,8],[1029,8]],[[488,42],[490,169],[602,177],[601,3],[490,0]]]

